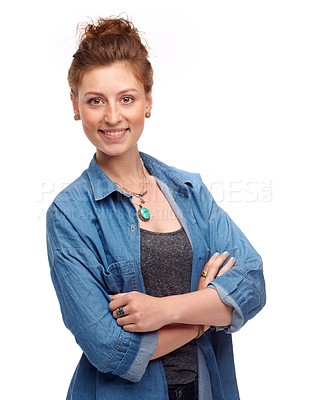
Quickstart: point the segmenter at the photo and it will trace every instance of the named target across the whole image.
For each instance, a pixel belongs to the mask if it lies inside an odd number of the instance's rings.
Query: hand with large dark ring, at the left
[[[149,332],[160,329],[168,321],[164,319],[164,297],[153,297],[144,293],[119,293],[111,297],[109,308],[117,324],[128,332]],[[119,317],[117,308],[123,307],[124,317]]]

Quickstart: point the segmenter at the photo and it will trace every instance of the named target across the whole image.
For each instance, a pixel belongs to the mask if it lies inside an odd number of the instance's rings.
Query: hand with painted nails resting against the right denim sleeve
[[[225,254],[226,253],[226,254]],[[215,253],[205,264],[203,271],[207,272],[207,275],[201,276],[199,283],[197,285],[197,290],[205,289],[205,287],[213,281],[216,277],[223,275],[226,271],[230,270],[235,264],[235,258],[231,257],[225,266],[218,271],[220,267],[223,265],[224,261],[229,257],[229,253],[227,251],[222,254]]]

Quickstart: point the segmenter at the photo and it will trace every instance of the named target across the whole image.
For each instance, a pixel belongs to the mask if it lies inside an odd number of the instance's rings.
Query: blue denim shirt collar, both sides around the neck
[[[193,183],[188,179],[183,179],[185,174],[182,174],[181,171],[176,168],[167,166],[146,153],[140,152],[140,156],[145,167],[154,177],[166,183],[170,189],[177,191],[184,196],[188,196],[187,185],[193,187]],[[96,161],[95,155],[90,162],[87,173],[96,201],[104,199],[113,192],[122,193],[118,186],[101,169]],[[130,197],[130,195],[127,196]]]

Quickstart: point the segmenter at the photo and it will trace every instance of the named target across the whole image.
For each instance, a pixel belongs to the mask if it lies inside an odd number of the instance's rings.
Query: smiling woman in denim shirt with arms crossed
[[[73,57],[74,118],[96,154],[47,214],[83,350],[67,399],[238,399],[231,333],[265,304],[261,258],[198,174],[139,153],[153,72],[134,26],[87,25]]]

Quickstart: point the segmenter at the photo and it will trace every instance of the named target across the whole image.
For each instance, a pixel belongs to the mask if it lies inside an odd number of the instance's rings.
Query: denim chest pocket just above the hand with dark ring
[[[103,277],[109,294],[137,290],[136,272],[132,260],[120,261],[103,268]]]

